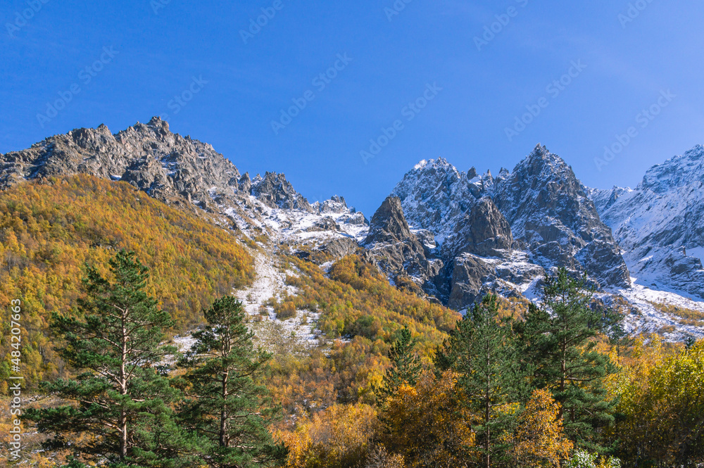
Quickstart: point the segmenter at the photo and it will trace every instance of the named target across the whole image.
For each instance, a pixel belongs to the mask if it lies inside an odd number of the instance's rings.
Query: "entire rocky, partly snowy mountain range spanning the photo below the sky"
[[[251,240],[266,236],[271,255],[358,253],[392,284],[456,310],[489,292],[534,299],[558,267],[649,311],[634,327],[677,324],[658,315],[653,291],[704,310],[703,146],[651,168],[636,189],[589,189],[541,145],[496,176],[423,160],[371,221],[341,196],[309,203],[283,174],[243,174],[159,118],[115,134],[75,129],[0,155],[1,189],[74,174],[127,182]]]

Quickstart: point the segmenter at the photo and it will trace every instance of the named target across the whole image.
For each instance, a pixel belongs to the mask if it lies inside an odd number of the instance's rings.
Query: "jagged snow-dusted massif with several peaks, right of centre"
[[[530,294],[555,267],[586,273],[602,288],[629,287],[620,248],[587,191],[561,158],[536,146],[497,177],[474,167],[460,172],[443,158],[424,160],[391,194],[410,227],[437,243],[443,269],[419,282],[465,308],[489,291]]]

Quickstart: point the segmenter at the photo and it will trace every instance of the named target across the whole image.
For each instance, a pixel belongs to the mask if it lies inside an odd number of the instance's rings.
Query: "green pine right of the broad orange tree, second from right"
[[[500,436],[511,419],[508,405],[517,399],[520,377],[512,327],[513,320],[498,316],[498,298],[484,296],[458,322],[446,352],[436,358],[441,367],[458,372],[470,409],[480,415],[473,429],[487,468],[505,448]]]

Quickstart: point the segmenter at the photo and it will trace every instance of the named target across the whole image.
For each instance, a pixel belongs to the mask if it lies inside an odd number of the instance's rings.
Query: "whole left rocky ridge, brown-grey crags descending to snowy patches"
[[[173,134],[156,117],[117,134],[105,125],[75,129],[0,155],[0,189],[78,173],[127,182],[166,203],[201,208],[252,236],[313,244],[318,238],[353,239],[356,245],[354,239],[366,230],[364,215],[343,198],[310,205],[283,174],[241,175],[213,146]]]

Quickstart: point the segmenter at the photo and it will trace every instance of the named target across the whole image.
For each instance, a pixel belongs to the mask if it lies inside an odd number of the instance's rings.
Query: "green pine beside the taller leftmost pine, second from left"
[[[271,355],[256,350],[241,302],[224,296],[205,312],[207,325],[181,362],[187,394],[182,421],[208,441],[201,447],[213,467],[269,467],[286,450],[272,440],[268,423],[279,408],[260,384]]]

